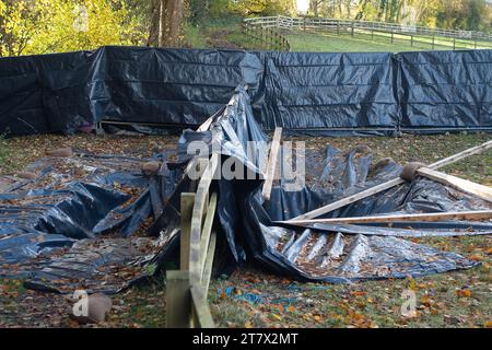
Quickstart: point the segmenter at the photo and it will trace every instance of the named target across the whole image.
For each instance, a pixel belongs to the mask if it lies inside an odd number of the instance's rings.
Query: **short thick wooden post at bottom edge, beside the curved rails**
[[[191,295],[188,271],[166,272],[166,327],[189,328]]]

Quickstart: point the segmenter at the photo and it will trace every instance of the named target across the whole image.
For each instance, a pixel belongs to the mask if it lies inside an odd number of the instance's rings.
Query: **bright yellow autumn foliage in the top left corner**
[[[0,0],[0,55],[142,45],[139,19],[124,0]]]

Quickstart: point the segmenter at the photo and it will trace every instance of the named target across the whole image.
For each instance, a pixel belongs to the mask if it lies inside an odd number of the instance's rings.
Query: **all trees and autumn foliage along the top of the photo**
[[[186,40],[214,19],[296,15],[297,0],[186,0]],[[492,32],[489,0],[306,0],[308,15]],[[0,0],[0,57],[148,42],[151,0]]]

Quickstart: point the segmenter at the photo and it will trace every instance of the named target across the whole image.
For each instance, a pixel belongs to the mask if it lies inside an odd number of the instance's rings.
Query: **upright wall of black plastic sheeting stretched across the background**
[[[313,135],[492,130],[492,50],[401,54],[102,47],[0,59],[0,133],[98,121],[198,126],[239,84],[256,121]]]

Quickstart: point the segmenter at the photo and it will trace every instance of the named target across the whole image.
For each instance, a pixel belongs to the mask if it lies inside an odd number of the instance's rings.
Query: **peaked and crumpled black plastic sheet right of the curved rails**
[[[256,124],[248,100],[239,89],[211,128],[215,136],[212,139],[221,144],[222,160],[234,158],[245,172],[256,172],[258,177],[221,179],[218,184],[220,223],[236,262],[253,259],[291,278],[329,282],[418,277],[477,265],[457,254],[402,237],[491,234],[491,222],[412,223],[418,230],[408,224],[406,229],[343,224],[300,229],[276,224],[398,176],[401,167],[393,161],[373,164],[366,147],[348,153],[328,148],[323,166],[309,161],[319,154],[306,151],[306,177],[314,179],[312,184],[288,190],[289,184],[282,177],[266,203],[261,197],[260,160],[267,152],[267,137]],[[189,141],[197,138],[198,133],[194,133]],[[202,132],[202,139],[210,140],[209,132]],[[248,141],[255,142],[251,145]],[[342,208],[331,217],[485,208],[490,209],[490,203],[419,178]]]

